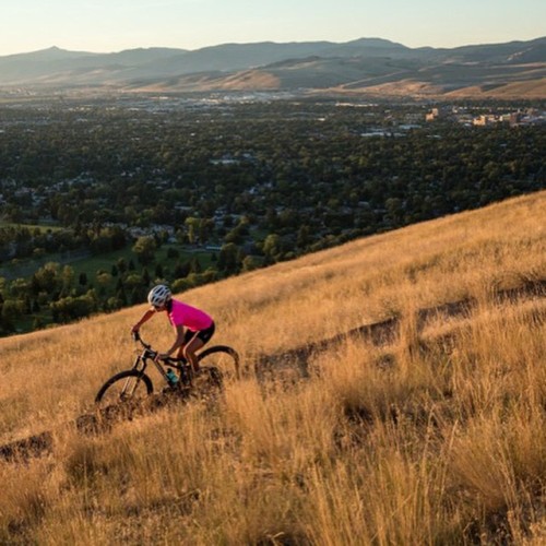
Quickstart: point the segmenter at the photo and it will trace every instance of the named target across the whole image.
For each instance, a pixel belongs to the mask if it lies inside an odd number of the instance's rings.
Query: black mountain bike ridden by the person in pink
[[[182,396],[195,393],[198,387],[200,392],[222,391],[225,380],[240,377],[239,355],[227,345],[214,345],[199,353],[197,356],[200,372],[195,376],[186,358],[169,357],[156,360],[158,352],[145,343],[139,332],[133,332],[133,340],[142,345],[142,351],[136,355],[132,368],[108,379],[95,396],[96,404],[109,406],[151,396],[154,384],[145,373],[150,360],[166,382],[163,392],[178,393]]]

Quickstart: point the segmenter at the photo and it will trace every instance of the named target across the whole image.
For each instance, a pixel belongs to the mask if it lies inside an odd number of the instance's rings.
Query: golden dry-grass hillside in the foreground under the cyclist
[[[0,443],[54,431],[0,461],[0,543],[543,544],[545,218],[542,192],[186,293],[246,378],[99,435],[66,424],[143,306],[0,340]]]

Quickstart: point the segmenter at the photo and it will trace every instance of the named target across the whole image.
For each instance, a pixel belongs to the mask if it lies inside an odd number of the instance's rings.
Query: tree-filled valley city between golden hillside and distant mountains
[[[545,104],[0,99],[0,332],[544,189]]]

